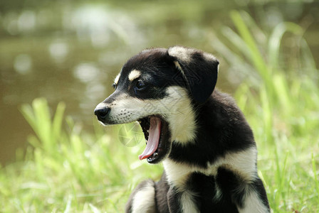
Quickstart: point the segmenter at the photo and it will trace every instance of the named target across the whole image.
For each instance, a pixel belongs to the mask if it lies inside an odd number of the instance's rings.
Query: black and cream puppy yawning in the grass
[[[95,108],[105,125],[139,121],[140,160],[164,165],[159,182],[135,188],[126,212],[270,212],[251,128],[234,99],[214,89],[218,67],[201,50],[143,50]]]

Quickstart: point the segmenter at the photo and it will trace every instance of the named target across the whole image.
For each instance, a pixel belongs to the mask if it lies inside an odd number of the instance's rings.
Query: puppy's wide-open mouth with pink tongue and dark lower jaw
[[[158,163],[169,152],[168,124],[160,116],[149,116],[138,121],[145,136],[146,148],[140,160],[147,158],[148,163]]]

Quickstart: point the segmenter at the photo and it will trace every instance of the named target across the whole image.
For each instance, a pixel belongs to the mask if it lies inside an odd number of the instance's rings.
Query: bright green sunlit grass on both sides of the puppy
[[[231,18],[235,28],[211,43],[244,79],[234,97],[253,128],[271,208],[319,212],[318,70],[303,29],[282,23],[267,34],[246,13]],[[288,55],[285,36],[294,40]],[[35,135],[25,155],[0,168],[0,212],[123,212],[138,182],[160,178],[161,165],[137,159],[144,146],[124,146],[130,141],[117,136],[133,131],[93,121],[95,132],[85,132],[65,108],[53,113],[45,99],[21,107]]]

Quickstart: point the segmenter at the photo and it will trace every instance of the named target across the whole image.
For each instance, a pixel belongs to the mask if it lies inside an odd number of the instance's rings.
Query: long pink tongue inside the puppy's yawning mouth
[[[141,155],[138,156],[140,160],[150,157],[160,142],[160,133],[161,133],[161,119],[156,117],[150,118],[150,131],[149,131],[148,141],[146,144],[146,148]]]

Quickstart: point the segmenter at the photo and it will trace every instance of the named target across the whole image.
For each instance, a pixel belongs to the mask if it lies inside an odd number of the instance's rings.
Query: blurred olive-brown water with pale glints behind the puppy
[[[297,23],[319,58],[319,1],[1,0],[0,163],[14,160],[32,132],[21,104],[36,97],[51,106],[63,101],[66,114],[90,130],[95,105],[113,91],[123,63],[144,48],[185,45],[214,53],[221,61],[217,86],[234,92],[249,75],[236,72],[218,51],[221,41],[229,42],[223,35],[234,25],[234,9],[256,21],[256,40],[266,39],[259,28],[270,33],[283,21]],[[296,44],[293,35],[284,36],[280,60],[293,67]]]

